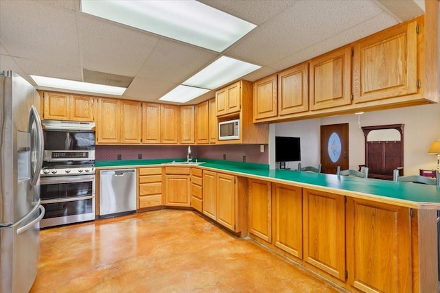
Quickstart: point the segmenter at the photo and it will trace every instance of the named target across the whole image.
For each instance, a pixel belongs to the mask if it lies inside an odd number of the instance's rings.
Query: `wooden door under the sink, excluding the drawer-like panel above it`
[[[174,207],[190,207],[190,176],[165,176],[165,204]]]

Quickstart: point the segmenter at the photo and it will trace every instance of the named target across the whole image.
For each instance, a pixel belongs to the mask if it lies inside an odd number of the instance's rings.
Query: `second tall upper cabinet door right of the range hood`
[[[135,101],[121,101],[121,138],[122,143],[140,143],[142,136],[142,109],[141,103]]]

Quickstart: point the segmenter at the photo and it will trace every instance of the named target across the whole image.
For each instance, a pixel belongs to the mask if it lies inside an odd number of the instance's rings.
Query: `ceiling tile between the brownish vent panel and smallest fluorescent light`
[[[159,102],[158,99],[177,86],[162,80],[151,78],[134,78],[123,97],[139,101]]]

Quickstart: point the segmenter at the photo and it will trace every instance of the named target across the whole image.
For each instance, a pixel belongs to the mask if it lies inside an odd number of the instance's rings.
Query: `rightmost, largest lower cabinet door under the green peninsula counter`
[[[350,285],[362,292],[411,292],[410,234],[408,208],[348,198]]]

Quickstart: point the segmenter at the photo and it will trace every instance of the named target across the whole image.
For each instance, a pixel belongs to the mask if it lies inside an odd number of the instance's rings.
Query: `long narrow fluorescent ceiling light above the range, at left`
[[[104,84],[91,84],[89,82],[77,82],[75,80],[63,80],[61,78],[47,78],[45,76],[30,75],[39,86],[54,89],[72,91],[85,91],[88,93],[104,93],[107,95],[122,95],[126,88],[120,86],[106,86]]]

